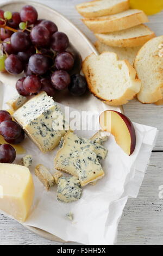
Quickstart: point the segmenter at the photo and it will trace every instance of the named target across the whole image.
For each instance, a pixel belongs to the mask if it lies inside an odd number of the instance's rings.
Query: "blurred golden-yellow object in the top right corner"
[[[163,10],[163,0],[130,0],[130,8],[145,11],[147,15]]]

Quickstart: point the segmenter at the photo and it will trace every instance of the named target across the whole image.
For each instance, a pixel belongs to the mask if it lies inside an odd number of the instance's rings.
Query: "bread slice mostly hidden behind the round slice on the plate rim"
[[[137,47],[112,47],[105,45],[100,41],[95,42],[95,47],[99,54],[102,52],[115,52],[120,60],[127,59],[131,65],[134,64],[137,52],[139,52],[141,46]]]

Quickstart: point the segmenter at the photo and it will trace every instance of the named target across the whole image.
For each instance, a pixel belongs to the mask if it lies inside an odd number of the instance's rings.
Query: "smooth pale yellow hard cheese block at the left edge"
[[[34,183],[29,169],[0,163],[0,209],[20,222],[26,221],[34,198]]]

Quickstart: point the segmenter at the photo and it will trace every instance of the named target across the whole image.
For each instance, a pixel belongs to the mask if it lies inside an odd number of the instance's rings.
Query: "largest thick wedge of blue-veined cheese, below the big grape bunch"
[[[64,114],[45,92],[26,102],[13,117],[43,153],[57,147],[65,135]]]

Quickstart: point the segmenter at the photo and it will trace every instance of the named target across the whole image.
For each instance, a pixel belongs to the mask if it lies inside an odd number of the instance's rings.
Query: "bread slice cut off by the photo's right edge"
[[[142,103],[162,100],[163,35],[153,38],[142,46],[137,53],[134,66],[142,82],[137,99]]]

